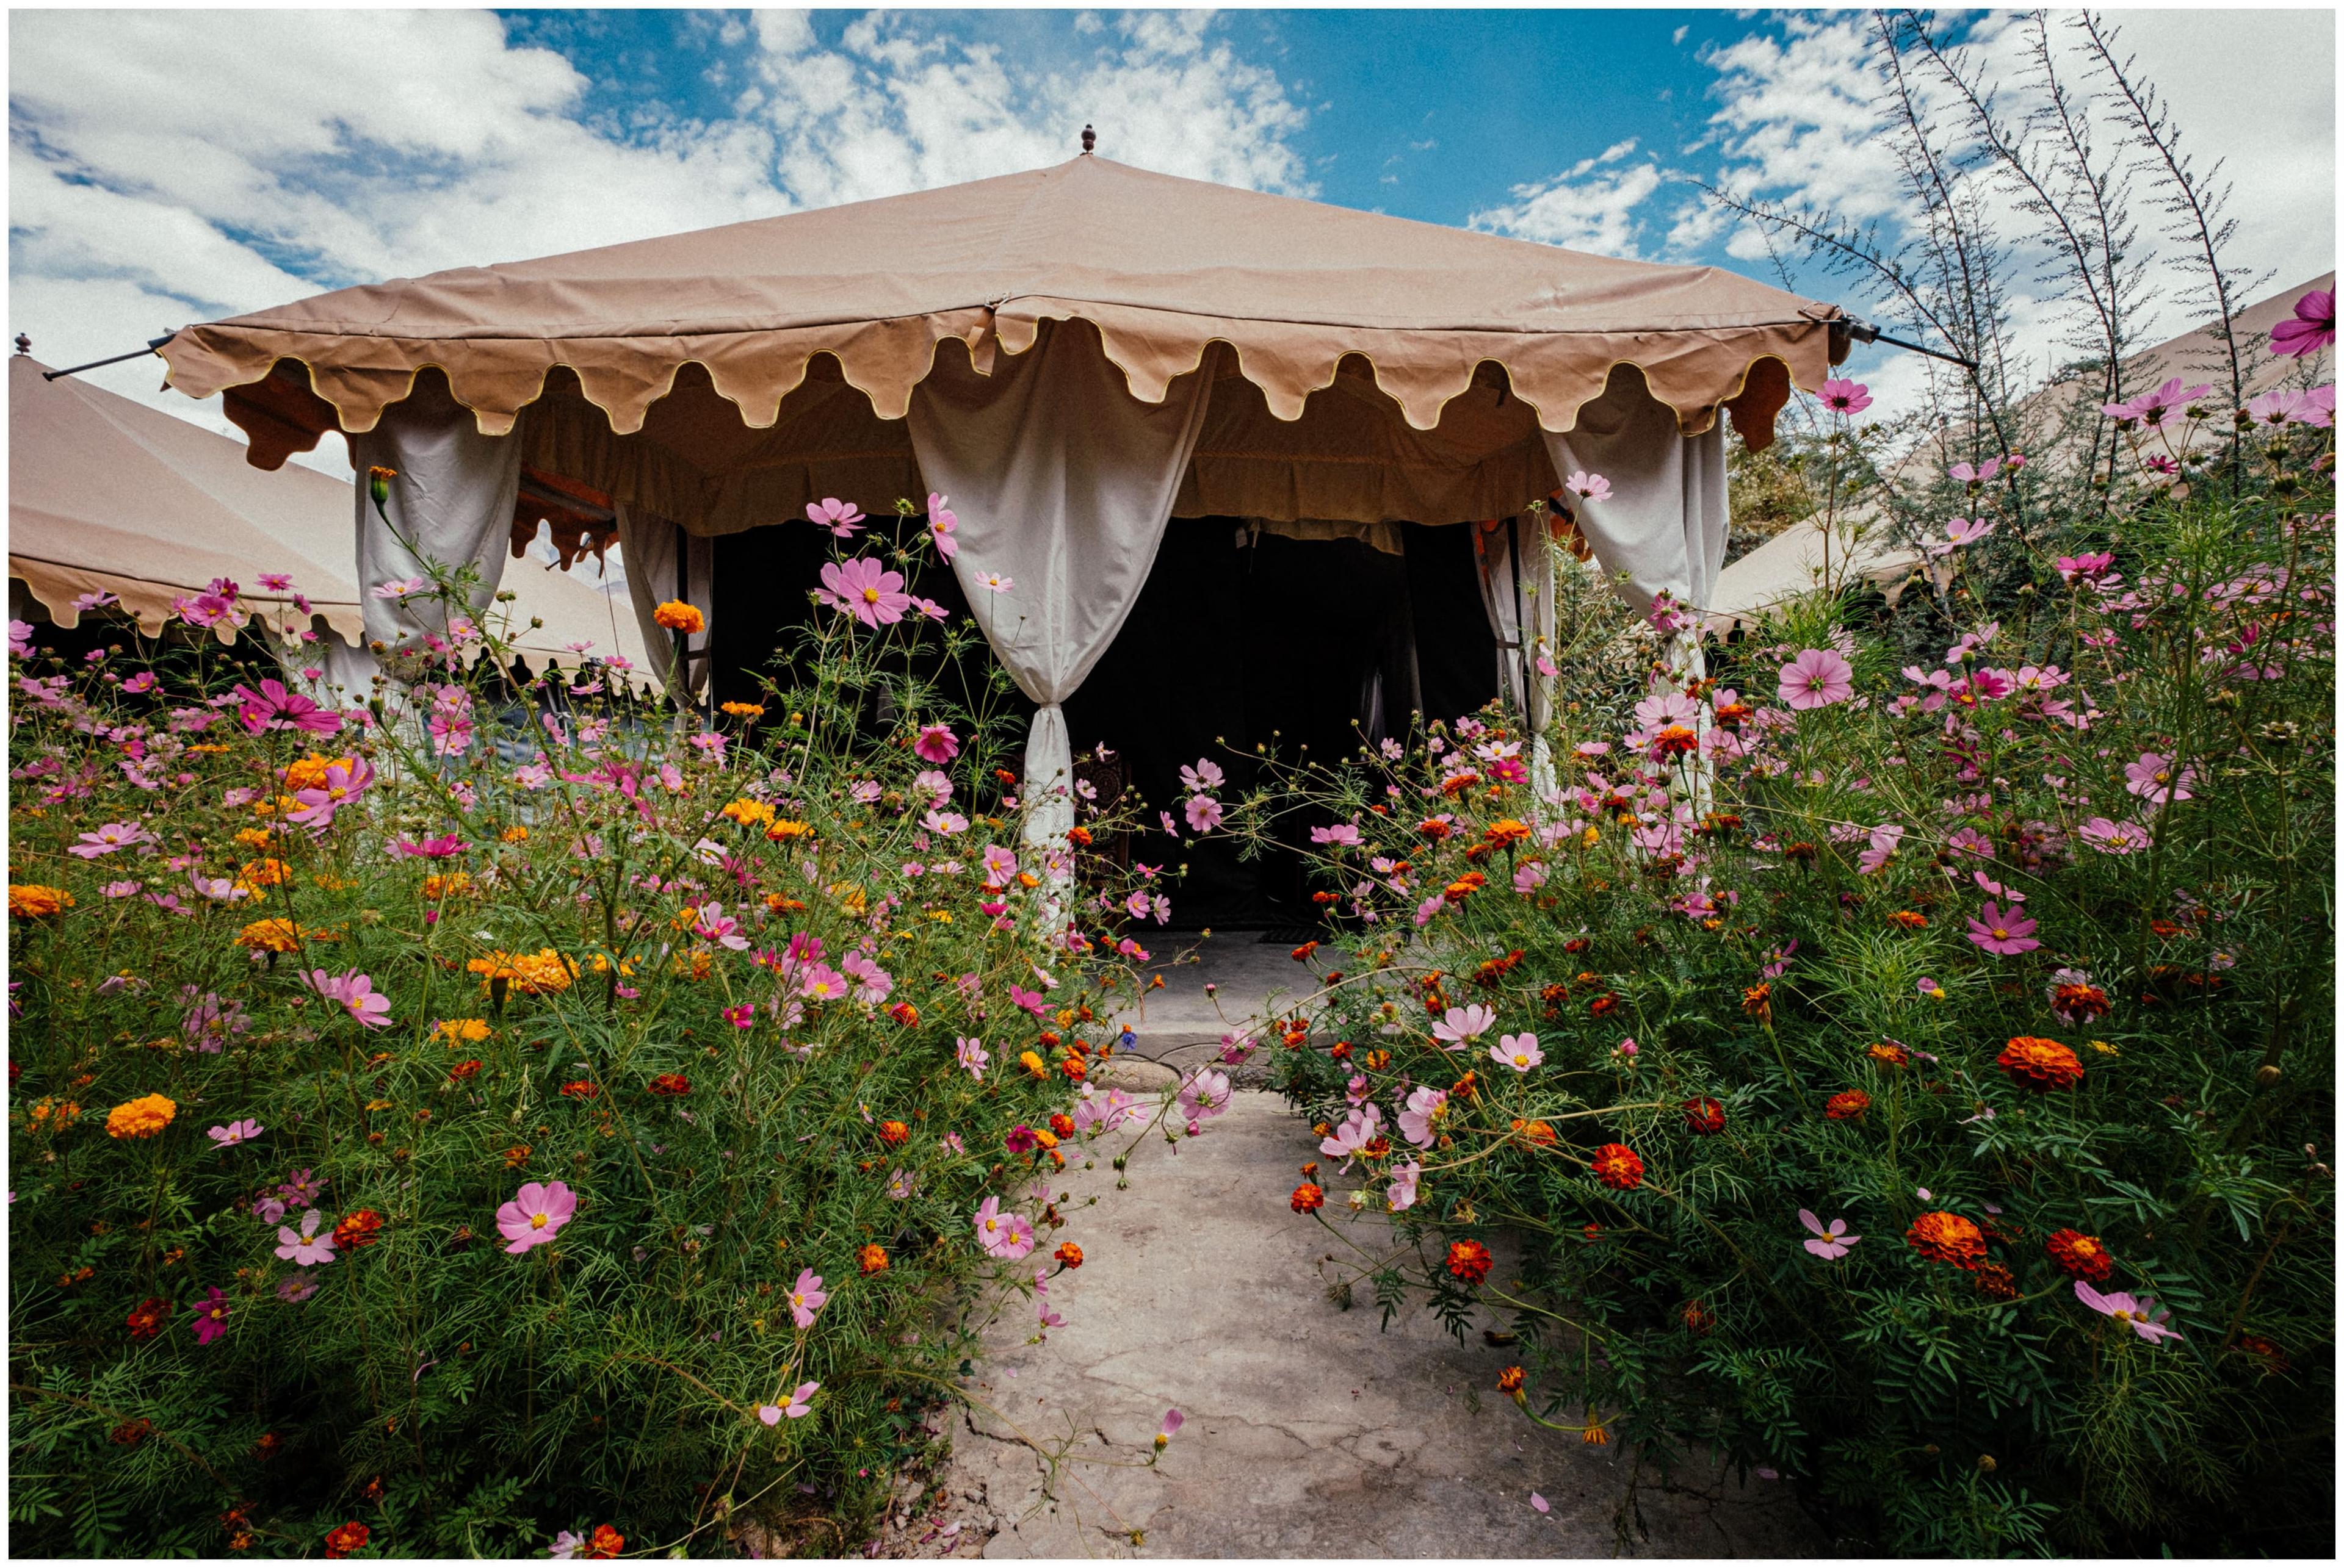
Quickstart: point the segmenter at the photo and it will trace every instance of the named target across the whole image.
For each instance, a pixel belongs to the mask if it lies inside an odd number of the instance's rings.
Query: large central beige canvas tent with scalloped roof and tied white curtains
[[[1575,471],[1603,473],[1610,497],[1570,506],[1580,541],[1629,598],[1704,602],[1725,541],[1720,413],[1763,445],[1793,382],[1819,387],[1847,333],[1833,305],[1713,267],[1085,152],[342,288],[190,326],[159,352],[180,391],[225,394],[255,464],[349,434],[359,464],[398,473],[401,530],[445,560],[492,560],[532,483],[607,511],[640,612],[677,595],[715,616],[694,638],[694,682],[727,630],[703,598],[710,541],[825,497],[872,511],[931,497],[931,513],[949,497],[952,572],[1036,703],[1027,795],[1052,809],[1029,832],[1059,841],[1062,703],[1116,640],[1174,516],[1306,537],[1484,525],[1470,558],[1488,635],[1538,720],[1528,670],[1552,595],[1526,509]],[[413,567],[387,530],[356,525],[361,581]],[[757,591],[802,600],[804,584]],[[366,612],[373,638],[424,630],[380,600]]]

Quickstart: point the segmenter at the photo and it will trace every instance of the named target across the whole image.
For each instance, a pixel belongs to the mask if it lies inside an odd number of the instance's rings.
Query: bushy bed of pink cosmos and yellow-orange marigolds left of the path
[[[309,1554],[349,1523],[368,1554],[605,1523],[722,1552],[748,1516],[858,1545],[999,1289],[973,1214],[1055,1245],[1029,1188],[1085,1158],[1081,1036],[1137,984],[1067,935],[1076,851],[1020,839],[999,715],[921,675],[968,638],[825,614],[715,729],[520,680],[495,626],[363,724],[302,720],[209,640],[19,659],[19,1552]],[[938,724],[949,762],[912,750]],[[105,823],[136,841],[68,853]],[[345,973],[387,1022],[321,991]],[[169,1123],[110,1134],[150,1095]],[[1064,1155],[1003,1153],[1052,1113]],[[513,1254],[523,1184],[577,1212],[523,1214]],[[300,1268],[312,1209],[338,1245]]]

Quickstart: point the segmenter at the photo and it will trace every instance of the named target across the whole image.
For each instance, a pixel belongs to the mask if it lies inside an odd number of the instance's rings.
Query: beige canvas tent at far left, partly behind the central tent
[[[225,577],[239,586],[241,619],[213,633],[232,642],[258,614],[300,623],[293,593],[307,595],[319,663],[333,642],[363,635],[349,516],[352,488],[305,466],[265,473],[237,441],[73,377],[47,380],[30,354],[9,361],[9,579],[56,626],[80,623],[75,600],[105,591],[155,635]],[[527,511],[527,504],[520,506]],[[263,574],[293,586],[270,593]],[[574,570],[523,558],[504,572],[518,652],[532,668],[577,668],[586,656],[621,654],[656,680],[663,661],[645,654],[631,609],[616,607]],[[544,621],[530,628],[530,621]],[[340,670],[338,670],[340,673]]]

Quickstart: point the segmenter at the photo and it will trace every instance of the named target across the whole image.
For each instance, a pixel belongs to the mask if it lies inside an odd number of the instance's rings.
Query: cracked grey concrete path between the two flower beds
[[[1120,1146],[1120,1139],[1116,1139]],[[1200,1139],[1160,1134],[1116,1191],[1104,1144],[1057,1191],[1085,1263],[1050,1284],[1034,1343],[1013,1298],[968,1380],[921,1554],[968,1556],[1812,1556],[1788,1488],[1678,1472],[1521,1420],[1505,1350],[1420,1305],[1378,1331],[1338,1308],[1327,1233],[1287,1209],[1308,1127],[1240,1092]],[[1088,1200],[1097,1198],[1095,1205]],[[1036,1254],[1036,1261],[1041,1254]],[[1479,1324],[1477,1324],[1479,1327]],[[989,1409],[984,1409],[989,1406]],[[1167,1406],[1188,1420],[1139,1467]],[[1038,1444],[1038,1448],[1036,1448]],[[1064,1453],[1052,1463],[1043,1453]],[[1552,1512],[1531,1507],[1545,1495]],[[931,1523],[933,1521],[933,1523]],[[942,1535],[940,1526],[952,1528]],[[1132,1533],[1139,1533],[1139,1545]]]

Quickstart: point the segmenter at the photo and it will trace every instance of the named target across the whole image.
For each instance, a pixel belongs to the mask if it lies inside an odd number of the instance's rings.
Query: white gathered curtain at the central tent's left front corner
[[[448,607],[436,600],[375,598],[391,581],[424,577],[424,563],[473,565],[473,619],[488,612],[504,577],[513,499],[520,492],[520,443],[483,436],[469,408],[445,391],[417,389],[382,413],[375,429],[349,438],[356,464],[359,593],[366,640],[398,647],[424,633],[448,630]],[[389,525],[368,495],[368,469],[391,469]],[[370,677],[373,673],[366,670]]]

